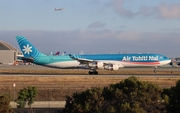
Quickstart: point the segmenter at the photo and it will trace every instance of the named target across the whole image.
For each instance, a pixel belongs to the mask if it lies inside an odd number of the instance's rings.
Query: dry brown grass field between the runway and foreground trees
[[[115,84],[128,76],[0,76],[0,94],[9,94],[13,98],[13,83],[16,93],[28,86],[37,86],[39,93],[36,100],[65,100],[66,95],[84,91],[91,87],[104,87]],[[179,77],[138,77],[159,86],[174,86]],[[17,95],[17,94],[16,94]]]

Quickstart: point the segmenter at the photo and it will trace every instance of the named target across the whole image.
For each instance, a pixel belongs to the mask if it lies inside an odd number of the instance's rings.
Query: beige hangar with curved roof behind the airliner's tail
[[[21,52],[12,45],[0,40],[0,64],[15,64],[17,55],[21,55]]]

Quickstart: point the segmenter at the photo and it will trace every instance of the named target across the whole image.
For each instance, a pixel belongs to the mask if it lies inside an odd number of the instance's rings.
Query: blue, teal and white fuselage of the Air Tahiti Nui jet
[[[122,67],[144,67],[162,66],[170,60],[159,54],[91,54],[76,55],[78,58],[91,59],[98,62],[117,64]],[[73,60],[69,55],[60,56],[40,56],[33,61],[35,64],[46,65],[57,68],[79,68],[80,62]]]

